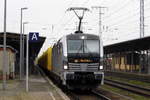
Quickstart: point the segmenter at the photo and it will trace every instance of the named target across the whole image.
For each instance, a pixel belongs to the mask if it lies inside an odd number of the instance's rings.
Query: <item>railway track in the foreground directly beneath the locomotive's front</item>
[[[71,100],[133,100],[130,97],[113,93],[102,88],[98,88],[86,93],[69,91],[67,95]]]

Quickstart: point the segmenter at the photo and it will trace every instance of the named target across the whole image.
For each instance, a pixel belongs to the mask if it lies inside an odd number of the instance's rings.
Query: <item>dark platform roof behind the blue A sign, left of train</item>
[[[6,37],[7,37],[6,44],[8,46],[11,46],[14,49],[16,49],[18,52],[17,54],[19,54],[19,52],[20,52],[20,34],[7,32]],[[24,35],[24,37],[26,37],[26,35]],[[26,47],[26,38],[24,38],[24,39],[25,39],[24,46]],[[30,48],[29,52],[32,53],[31,56],[33,56],[33,55],[34,55],[34,57],[37,56],[45,39],[46,39],[45,37],[40,37],[38,42],[29,44],[29,48]],[[3,45],[3,32],[0,32],[0,44]]]

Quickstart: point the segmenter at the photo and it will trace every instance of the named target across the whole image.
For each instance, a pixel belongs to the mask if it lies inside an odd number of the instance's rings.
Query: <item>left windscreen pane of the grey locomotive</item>
[[[83,40],[68,40],[68,53],[83,53]]]

